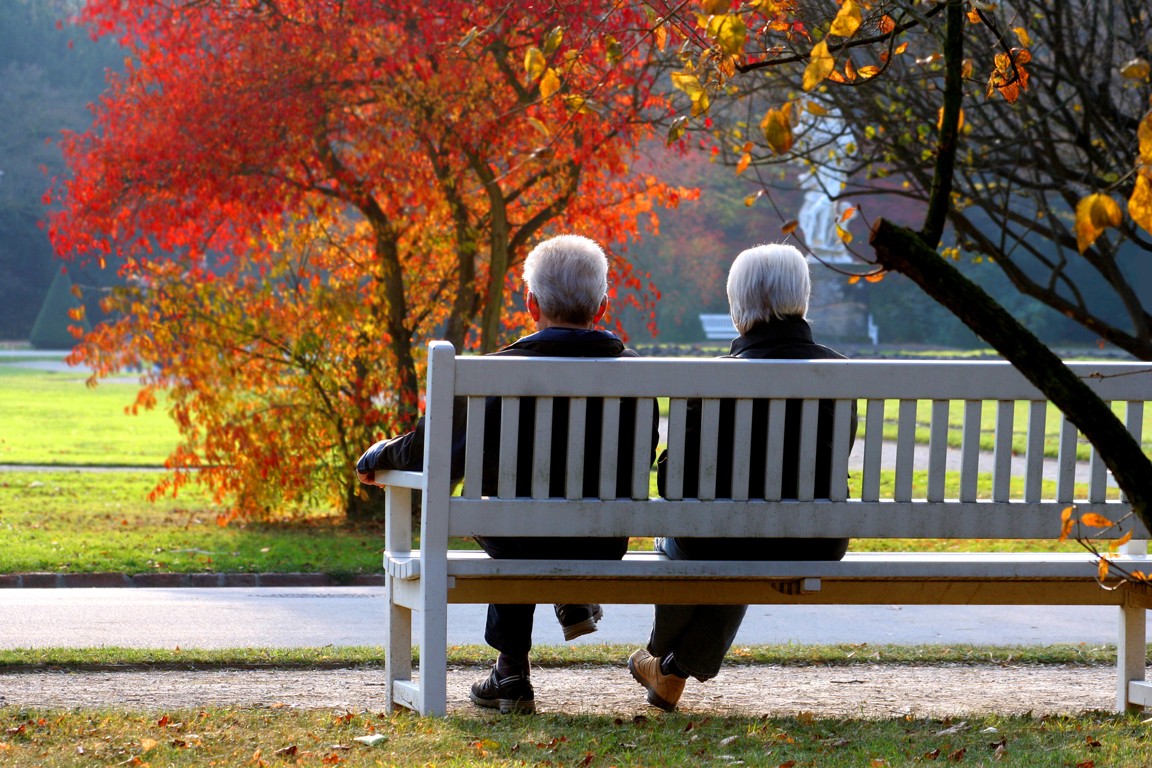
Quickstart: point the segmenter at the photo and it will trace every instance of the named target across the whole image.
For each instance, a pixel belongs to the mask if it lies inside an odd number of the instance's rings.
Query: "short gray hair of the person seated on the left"
[[[608,294],[608,257],[593,239],[559,235],[524,259],[524,284],[550,319],[589,324]]]

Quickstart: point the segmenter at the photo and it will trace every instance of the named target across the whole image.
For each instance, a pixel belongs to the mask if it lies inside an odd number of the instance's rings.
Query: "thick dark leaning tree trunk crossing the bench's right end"
[[[1011,363],[1084,433],[1112,470],[1136,516],[1152,529],[1152,461],[1107,403],[1039,339],[920,239],[884,219],[870,237],[880,265],[900,272]]]

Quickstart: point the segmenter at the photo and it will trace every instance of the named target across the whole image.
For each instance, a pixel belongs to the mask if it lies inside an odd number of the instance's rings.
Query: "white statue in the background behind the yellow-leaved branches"
[[[847,200],[833,200],[832,197],[844,189],[848,180],[846,169],[856,139],[836,109],[813,117],[802,127],[799,136],[804,153],[812,159],[808,170],[797,180],[804,190],[804,204],[797,216],[804,243],[824,263],[849,264],[854,259],[840,239],[836,225],[848,225],[842,219],[852,206]]]

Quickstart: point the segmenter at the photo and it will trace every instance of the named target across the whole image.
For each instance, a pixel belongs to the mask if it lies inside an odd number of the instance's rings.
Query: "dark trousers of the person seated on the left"
[[[497,560],[620,560],[628,550],[627,538],[476,537],[476,541]],[[509,656],[528,656],[535,613],[532,603],[490,604],[484,641]]]

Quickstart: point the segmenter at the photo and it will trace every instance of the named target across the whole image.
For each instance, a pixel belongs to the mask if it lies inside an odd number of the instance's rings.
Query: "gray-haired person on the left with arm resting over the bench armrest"
[[[524,336],[495,355],[523,357],[635,357],[616,336],[596,329],[608,306],[608,260],[593,241],[578,235],[561,235],[537,245],[524,261],[525,303],[536,324],[536,333]],[[462,404],[457,404],[462,405]],[[486,424],[500,423],[500,401],[488,401]],[[536,403],[521,401],[517,443],[517,495],[530,495],[532,440]],[[584,495],[596,496],[599,488],[599,455],[602,403],[588,403],[585,427]],[[657,443],[658,417],[653,413],[652,446]],[[463,410],[453,419],[457,428],[453,454],[453,476],[463,476]],[[620,450],[628,455],[635,439],[635,402],[621,403]],[[497,492],[499,431],[485,433],[484,478],[482,491]],[[492,438],[492,441],[488,438]],[[563,467],[568,444],[568,403],[553,403],[552,467],[550,493],[563,495]],[[376,443],[361,456],[356,471],[362,482],[371,484],[373,472],[381,469],[419,470],[424,454],[423,419],[412,432]],[[627,464],[627,462],[624,463]],[[617,495],[629,495],[631,469],[616,470]],[[627,538],[479,538],[479,545],[492,557],[544,557],[556,560],[619,560],[628,548]],[[488,606],[484,639],[499,652],[491,675],[472,685],[471,699],[482,707],[501,713],[536,712],[536,694],[529,677],[529,651],[532,645],[532,604]],[[556,618],[570,640],[596,631],[602,616],[599,606],[555,606]]]

